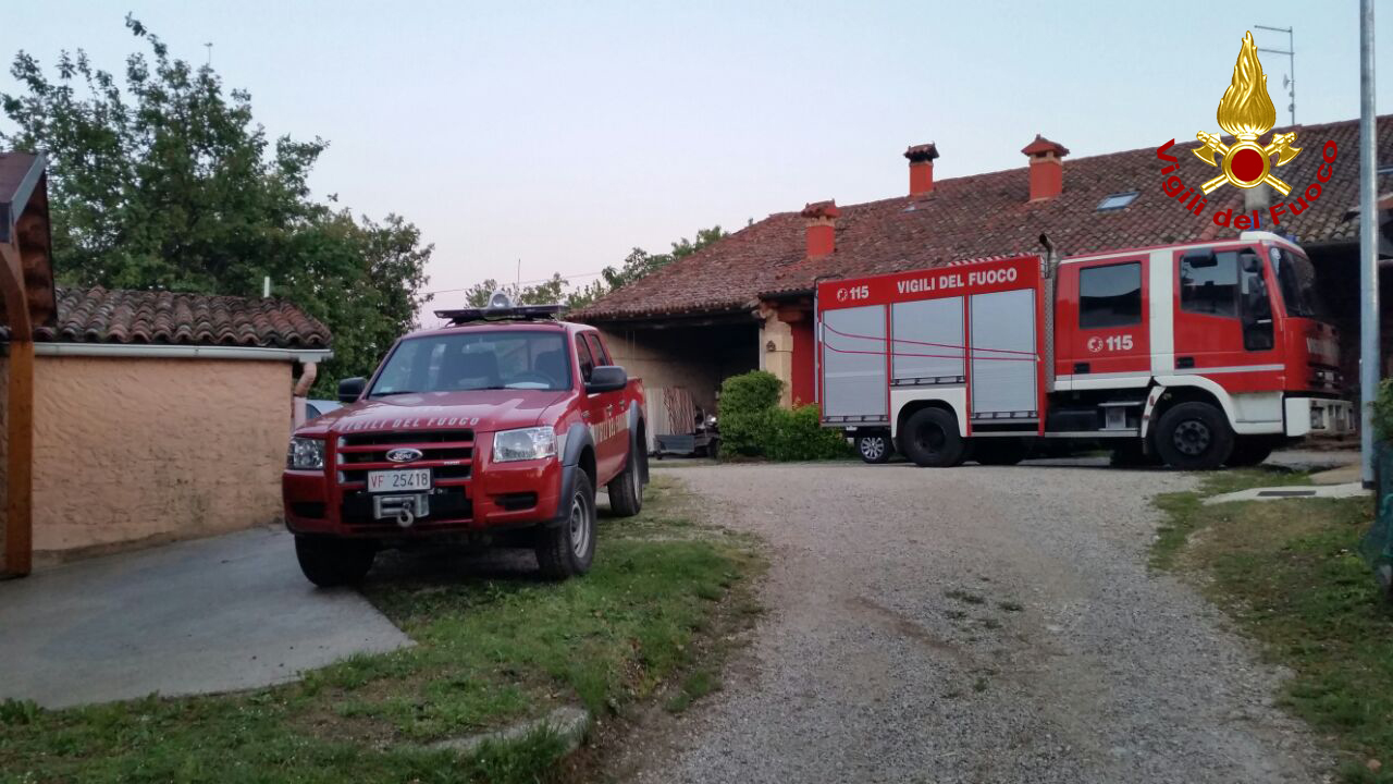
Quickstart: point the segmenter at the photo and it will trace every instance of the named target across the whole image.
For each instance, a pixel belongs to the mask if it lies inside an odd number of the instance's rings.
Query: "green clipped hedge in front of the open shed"
[[[818,423],[818,406],[779,407],[783,381],[762,370],[733,375],[720,385],[723,458],[827,460],[851,455],[840,431]]]

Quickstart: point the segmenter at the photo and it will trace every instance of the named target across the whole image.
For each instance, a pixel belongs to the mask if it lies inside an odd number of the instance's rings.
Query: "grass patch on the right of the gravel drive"
[[[1393,784],[1393,612],[1358,555],[1371,501],[1204,506],[1215,492],[1309,483],[1304,474],[1226,473],[1237,476],[1215,474],[1201,492],[1158,499],[1169,522],[1153,564],[1201,575],[1211,598],[1293,671],[1282,703],[1336,741],[1343,781]]]

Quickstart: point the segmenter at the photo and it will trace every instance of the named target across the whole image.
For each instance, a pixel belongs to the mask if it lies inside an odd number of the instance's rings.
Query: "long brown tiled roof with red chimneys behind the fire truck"
[[[1379,160],[1393,162],[1393,116],[1379,117],[1378,128]],[[1273,204],[1290,204],[1298,195],[1297,188],[1316,181],[1326,140],[1339,145],[1339,158],[1333,177],[1321,186],[1319,201],[1300,216],[1283,219],[1279,230],[1295,234],[1305,244],[1358,241],[1358,223],[1346,220],[1347,211],[1360,201],[1358,121],[1294,130],[1302,152],[1273,170],[1293,193],[1286,199],[1273,194]],[[1188,187],[1219,173],[1191,153],[1198,146],[1177,140],[1169,151],[1178,159],[1174,173]],[[822,276],[876,275],[970,257],[1035,252],[1041,233],[1049,234],[1064,255],[1238,234],[1236,229],[1215,226],[1211,218],[1217,209],[1241,212],[1243,190],[1223,186],[1213,191],[1199,218],[1162,191],[1165,165],[1156,159],[1155,146],[1064,159],[1064,191],[1049,201],[1028,201],[1029,173],[1021,166],[939,180],[933,193],[922,197],[837,205],[836,252],[816,259],[805,258],[807,219],[798,212],[775,213],[573,317],[605,321],[752,308],[761,294],[807,292]],[[1393,177],[1379,180],[1380,191],[1393,186]],[[1098,212],[1098,204],[1109,194],[1130,191],[1139,195],[1126,208]]]

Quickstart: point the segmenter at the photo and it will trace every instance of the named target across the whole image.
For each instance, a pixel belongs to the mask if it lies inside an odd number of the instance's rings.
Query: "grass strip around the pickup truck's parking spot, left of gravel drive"
[[[719,612],[752,615],[754,544],[692,523],[655,477],[644,515],[602,519],[593,571],[538,582],[415,568],[398,555],[365,594],[418,644],[355,656],[302,682],[255,692],[40,710],[0,704],[0,781],[552,780],[560,739],[539,732],[469,759],[430,741],[582,703],[605,714],[680,684],[719,688],[701,660]]]

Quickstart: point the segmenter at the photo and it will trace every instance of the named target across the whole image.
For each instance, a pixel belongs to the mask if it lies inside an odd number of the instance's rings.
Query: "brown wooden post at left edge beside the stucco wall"
[[[33,555],[33,326],[20,248],[0,246],[0,293],[10,321],[6,424],[6,576],[28,575]]]

